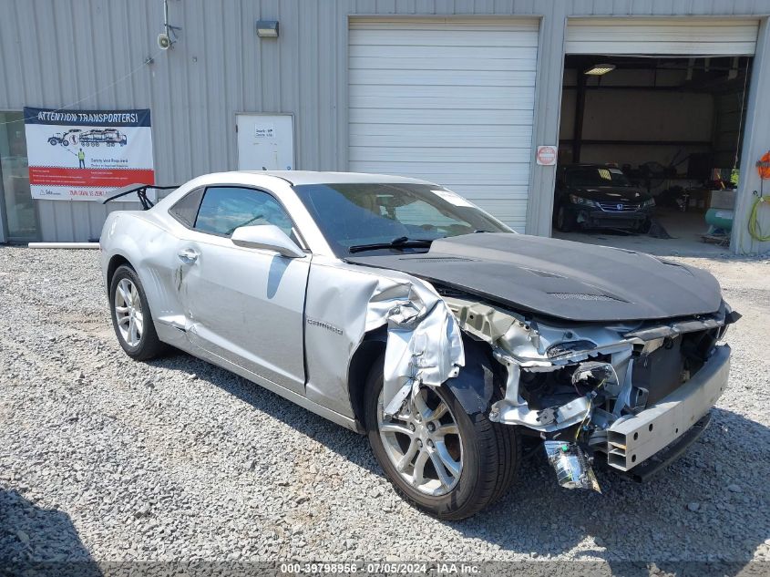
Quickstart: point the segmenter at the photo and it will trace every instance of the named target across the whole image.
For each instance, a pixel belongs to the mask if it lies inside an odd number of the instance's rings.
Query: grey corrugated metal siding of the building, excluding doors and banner
[[[161,0],[0,0],[0,110],[151,108],[160,183],[233,170],[236,112],[292,112],[297,168],[345,170],[348,17],[455,14],[542,16],[538,145],[559,138],[568,16],[767,15],[770,0],[169,0],[170,23],[184,29],[163,53]],[[256,36],[259,17],[281,22],[277,41]],[[756,108],[752,118],[770,119]],[[547,234],[554,173],[531,173],[527,229]],[[38,201],[38,210],[44,240],[82,241],[108,209]]]

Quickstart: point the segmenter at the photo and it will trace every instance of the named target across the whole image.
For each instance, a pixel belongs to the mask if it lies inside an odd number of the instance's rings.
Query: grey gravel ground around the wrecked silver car
[[[441,522],[364,438],[188,355],[135,363],[96,251],[0,248],[0,565],[8,560],[770,560],[770,262],[711,270],[744,314],[712,427],[662,477],[560,489],[542,459]]]

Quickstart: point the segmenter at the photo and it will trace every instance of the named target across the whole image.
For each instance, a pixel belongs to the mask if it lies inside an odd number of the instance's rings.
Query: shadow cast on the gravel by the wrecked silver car
[[[365,438],[261,386],[190,355],[151,364],[195,374],[383,476]],[[703,437],[647,483],[600,469],[602,494],[561,489],[538,451],[522,463],[514,486],[497,504],[445,524],[464,537],[539,559],[569,552],[590,538],[595,547],[582,551],[581,559],[608,562],[624,575],[649,575],[645,562],[676,574],[711,574],[703,562],[721,562],[719,573],[732,576],[770,540],[770,501],[765,485],[757,482],[766,477],[768,462],[770,428],[714,408]],[[770,571],[766,557],[764,563]]]

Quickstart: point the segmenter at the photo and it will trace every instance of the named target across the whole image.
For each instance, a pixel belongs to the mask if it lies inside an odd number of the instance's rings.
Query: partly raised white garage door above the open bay
[[[745,18],[574,18],[567,54],[753,56],[759,21]]]

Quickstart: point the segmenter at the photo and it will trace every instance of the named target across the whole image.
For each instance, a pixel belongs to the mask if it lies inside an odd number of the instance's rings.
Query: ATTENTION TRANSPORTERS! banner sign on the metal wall
[[[103,201],[127,184],[155,184],[149,109],[25,108],[33,199]]]

